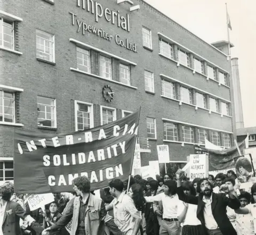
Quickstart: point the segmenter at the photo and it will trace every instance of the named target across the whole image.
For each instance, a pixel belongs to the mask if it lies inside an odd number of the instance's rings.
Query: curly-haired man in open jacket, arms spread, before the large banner
[[[45,231],[64,228],[72,219],[71,233],[85,235],[85,228],[90,234],[101,235],[105,223],[113,234],[122,234],[113,219],[107,214],[105,205],[100,198],[90,193],[90,180],[87,177],[78,177],[73,180],[77,197],[73,198],[70,206],[55,224]],[[79,205],[79,206],[77,206]]]

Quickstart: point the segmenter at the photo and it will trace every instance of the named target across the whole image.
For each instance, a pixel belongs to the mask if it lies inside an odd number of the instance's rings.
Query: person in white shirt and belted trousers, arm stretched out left
[[[179,204],[177,183],[174,180],[167,180],[165,181],[164,186],[164,193],[145,197],[145,199],[148,203],[158,201],[163,204],[163,220],[161,222],[159,234],[179,235],[180,222],[177,215],[177,205]]]

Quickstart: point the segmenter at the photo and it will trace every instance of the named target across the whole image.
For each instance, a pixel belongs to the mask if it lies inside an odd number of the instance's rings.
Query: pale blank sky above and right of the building
[[[244,127],[256,127],[255,0],[145,0],[207,43],[228,40],[226,4],[232,31],[231,57],[238,57]],[[246,4],[245,4],[246,3]],[[255,102],[255,103],[254,103]]]

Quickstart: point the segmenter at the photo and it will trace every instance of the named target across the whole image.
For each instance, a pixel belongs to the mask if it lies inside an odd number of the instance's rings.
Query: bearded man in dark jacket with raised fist
[[[238,209],[241,206],[239,200],[232,194],[228,186],[221,186],[220,189],[228,194],[215,194],[207,179],[198,182],[199,196],[185,195],[181,187],[180,177],[184,173],[178,170],[177,194],[179,199],[185,203],[197,205],[197,218],[201,221],[201,235],[237,235],[233,225],[226,214],[227,206]]]

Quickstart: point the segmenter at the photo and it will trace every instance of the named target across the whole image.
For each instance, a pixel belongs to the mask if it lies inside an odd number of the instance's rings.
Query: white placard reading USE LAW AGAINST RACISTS
[[[191,154],[189,156],[190,162],[190,181],[195,178],[206,177],[206,155],[205,154]]]

